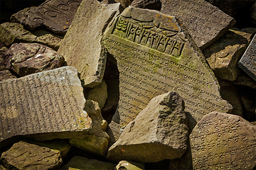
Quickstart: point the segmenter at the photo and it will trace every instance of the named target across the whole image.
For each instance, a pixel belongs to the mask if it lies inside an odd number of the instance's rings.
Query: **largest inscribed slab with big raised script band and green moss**
[[[176,91],[198,122],[212,111],[229,112],[220,86],[201,50],[174,16],[126,8],[102,40],[117,60],[119,105],[107,131],[110,140],[134,120],[154,96]],[[114,142],[114,141],[112,141]]]

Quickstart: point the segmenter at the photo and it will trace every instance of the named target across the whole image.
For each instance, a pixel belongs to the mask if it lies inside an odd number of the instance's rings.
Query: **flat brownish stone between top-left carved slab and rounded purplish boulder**
[[[14,42],[37,42],[58,50],[62,36],[50,33],[48,30],[25,30],[20,23],[2,23],[0,25],[0,40],[6,46]]]

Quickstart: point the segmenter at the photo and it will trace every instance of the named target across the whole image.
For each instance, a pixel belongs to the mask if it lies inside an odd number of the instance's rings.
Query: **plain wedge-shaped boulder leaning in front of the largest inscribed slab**
[[[156,96],[130,122],[107,157],[114,162],[159,162],[182,156],[188,146],[184,102],[175,91]]]

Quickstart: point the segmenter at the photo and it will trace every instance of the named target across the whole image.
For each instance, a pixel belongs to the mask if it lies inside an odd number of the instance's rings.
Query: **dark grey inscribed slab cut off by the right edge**
[[[252,38],[250,45],[238,62],[238,67],[256,81],[256,35]]]

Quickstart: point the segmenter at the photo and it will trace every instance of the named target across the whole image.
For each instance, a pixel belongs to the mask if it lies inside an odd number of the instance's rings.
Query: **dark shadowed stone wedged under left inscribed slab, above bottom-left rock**
[[[68,152],[70,151],[71,145],[68,143],[67,140],[47,140],[47,141],[32,141],[32,140],[26,140],[25,142],[39,145],[41,147],[48,147],[52,149],[53,151],[56,150],[56,152],[60,152],[61,159],[65,159],[67,157]]]

